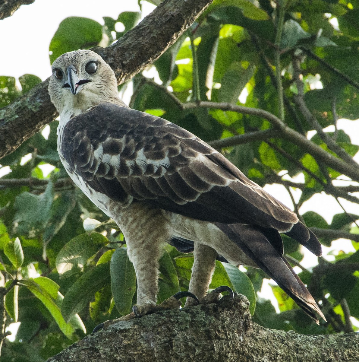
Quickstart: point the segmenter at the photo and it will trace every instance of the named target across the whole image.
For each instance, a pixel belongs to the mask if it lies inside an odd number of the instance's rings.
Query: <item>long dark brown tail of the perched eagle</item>
[[[325,320],[314,298],[284,258],[282,248],[279,247],[281,242],[278,239],[280,238],[278,232],[245,224],[216,223],[216,225],[252,258],[259,268],[276,281],[317,324],[319,324],[317,314]],[[318,250],[316,252],[318,253]]]

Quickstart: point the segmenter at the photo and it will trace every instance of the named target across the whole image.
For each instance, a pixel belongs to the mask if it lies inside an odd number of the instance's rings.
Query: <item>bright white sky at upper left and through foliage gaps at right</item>
[[[154,6],[144,2],[144,14]],[[68,16],[82,16],[104,24],[102,17],[117,19],[123,11],[138,11],[137,0],[36,0],[33,4],[23,5],[13,16],[0,21],[0,75],[19,76],[30,73],[45,80],[51,75],[48,46],[59,23]],[[359,121],[340,120],[338,128],[345,129],[352,142],[359,144]],[[358,156],[358,155],[357,155]],[[357,158],[358,161],[358,158]],[[292,205],[284,188],[267,185],[266,190],[286,205]],[[300,195],[296,195],[299,197]],[[343,201],[348,212],[359,214],[359,206]],[[304,203],[300,212],[313,210],[321,214],[329,223],[334,214],[341,213],[338,203],[324,193],[316,195]],[[354,251],[350,241],[340,239],[333,243],[335,249]],[[325,248],[324,255],[331,250]],[[303,251],[306,249],[303,248]],[[330,258],[330,256],[326,256]],[[317,264],[316,257],[305,252],[305,267]],[[269,293],[271,294],[271,293]],[[273,300],[275,303],[275,301]]]

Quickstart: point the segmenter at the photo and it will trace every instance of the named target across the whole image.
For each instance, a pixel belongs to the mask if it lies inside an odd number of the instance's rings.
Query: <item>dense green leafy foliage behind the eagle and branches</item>
[[[355,155],[358,146],[351,143],[350,135],[337,130],[336,123],[341,117],[359,117],[358,2],[288,1],[282,19],[273,4],[215,0],[191,28],[193,44],[187,33],[154,63],[162,85],[142,74],[133,79],[130,105],[160,115],[208,142],[257,132],[251,143],[238,142],[223,152],[261,186],[279,183],[288,192],[301,190],[296,211],[322,191],[355,202],[355,195],[349,192],[359,191],[357,184],[350,189],[334,187],[332,181],[341,173],[325,160],[286,138],[261,136],[261,131],[273,126],[258,114],[179,106],[179,102],[195,100],[197,84],[202,101],[244,104],[278,115],[281,99],[276,72],[280,72],[282,121],[304,136],[316,128],[314,121],[321,129],[331,126],[331,132],[324,130],[325,135],[349,158]],[[103,26],[87,18],[67,18],[51,40],[50,61],[66,51],[107,46],[138,20],[139,13],[134,12],[121,13],[117,19],[104,17]],[[336,20],[338,27],[332,25]],[[117,23],[122,23],[123,31],[118,31]],[[277,56],[280,69],[275,69]],[[20,90],[13,77],[0,76],[0,107],[39,81],[24,75]],[[21,322],[16,340],[6,341],[6,357],[1,361],[44,361],[98,323],[130,312],[136,300],[135,273],[127,257],[126,240],[68,181],[56,153],[56,127],[53,122],[48,138],[39,133],[1,160],[11,172],[0,179],[0,286],[4,286],[0,293],[5,296],[7,324]],[[339,156],[319,132],[311,143],[331,157]],[[23,157],[29,154],[25,161]],[[46,176],[44,164],[53,169]],[[350,167],[358,171],[354,163]],[[289,181],[299,174],[304,183]],[[359,240],[358,227],[352,226],[358,215],[343,212],[330,223],[314,211],[302,217],[308,227],[317,228],[326,246],[340,236]],[[288,237],[283,239],[290,262],[300,265],[303,253],[299,245]],[[320,302],[328,324],[314,324],[278,286],[272,290],[280,313],[268,300],[256,300],[266,278],[258,269],[239,270],[217,262],[210,287],[228,285],[246,295],[254,320],[265,327],[300,333],[347,332],[355,328],[348,313],[359,319],[356,241],[352,241],[356,252],[339,252],[334,261],[321,259],[313,269],[301,267],[299,276]],[[188,288],[192,264],[190,255],[166,247],[160,260],[158,302]]]

